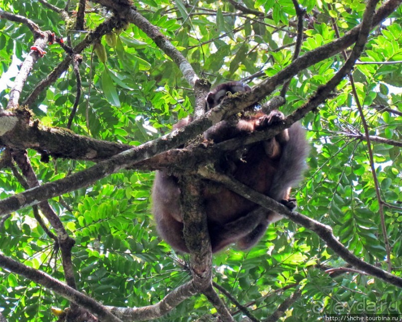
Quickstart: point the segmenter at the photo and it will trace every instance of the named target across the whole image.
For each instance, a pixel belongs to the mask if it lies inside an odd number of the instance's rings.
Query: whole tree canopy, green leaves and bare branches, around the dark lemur
[[[0,321],[401,318],[401,2],[0,0]],[[205,113],[229,80],[252,90]],[[200,135],[256,103],[287,117],[218,149],[300,121],[296,211],[206,174]],[[156,232],[158,169],[190,254]],[[212,255],[206,179],[285,218]]]

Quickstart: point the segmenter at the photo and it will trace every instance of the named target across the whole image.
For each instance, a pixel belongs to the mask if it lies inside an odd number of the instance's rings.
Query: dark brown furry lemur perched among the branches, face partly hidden
[[[211,109],[217,106],[228,95],[250,90],[251,88],[242,82],[220,84],[209,92],[207,107]],[[204,138],[220,143],[263,130],[283,119],[284,115],[279,111],[273,110],[269,114],[256,112],[253,105],[242,113],[240,119],[221,121],[209,128],[205,131]],[[173,129],[181,128],[191,121],[191,118],[181,120]],[[305,131],[297,122],[271,139],[251,144],[241,152],[221,157],[216,167],[250,188],[293,209],[295,202],[289,198],[290,188],[302,177],[308,151]],[[183,215],[177,180],[174,175],[156,171],[152,189],[152,210],[159,235],[174,249],[188,252],[183,237]],[[223,185],[218,184],[217,187],[216,183],[206,183],[201,197],[204,200],[212,252],[217,252],[231,243],[236,243],[240,249],[248,249],[261,239],[269,223],[282,218],[279,214],[266,210],[266,215],[258,223],[242,221],[242,218],[258,205]],[[250,224],[253,224],[252,229]]]

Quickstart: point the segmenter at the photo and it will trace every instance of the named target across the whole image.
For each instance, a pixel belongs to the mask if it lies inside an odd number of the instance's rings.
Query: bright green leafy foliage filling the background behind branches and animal
[[[71,21],[63,20],[40,2],[0,0],[0,8],[31,19],[42,30],[69,36],[73,44],[84,38],[85,33],[75,32],[72,14]],[[64,8],[66,2],[48,0],[59,8]],[[76,9],[77,2],[69,1],[69,13]],[[257,84],[291,62],[296,39],[295,8],[290,0],[245,0],[241,2],[243,9],[235,8],[233,3],[144,0],[136,1],[135,6],[172,40],[198,75],[216,84],[246,77],[252,80],[251,85]],[[85,27],[92,30],[110,12],[91,2],[88,5]],[[344,35],[361,22],[365,9],[363,0],[302,0],[300,5],[306,9],[300,55],[336,39],[335,26]],[[372,32],[361,63],[353,72],[357,97],[350,80],[345,79],[325,104],[302,120],[312,151],[305,180],[294,190],[301,213],[331,226],[350,251],[385,270],[387,252],[380,202],[367,142],[360,137],[364,128],[356,98],[364,107],[371,136],[401,142],[401,23],[399,7]],[[92,46],[81,53],[83,96],[71,130],[100,140],[139,145],[167,133],[177,119],[191,114],[194,92],[177,65],[138,27],[129,24],[121,33],[115,31],[116,46],[102,39],[107,52],[105,64]],[[25,59],[33,40],[24,24],[0,20],[2,108],[9,99],[16,66]],[[20,102],[64,57],[59,45],[48,48],[29,74]],[[284,114],[306,102],[343,62],[339,53],[292,78],[282,107]],[[70,66],[29,108],[43,125],[66,127],[76,87]],[[273,95],[279,95],[279,91],[276,89]],[[381,198],[386,203],[385,227],[393,273],[401,276],[401,148],[377,141],[372,147]],[[45,163],[34,151],[29,151],[28,157],[40,182],[57,180],[92,164],[64,159]],[[24,190],[14,174],[10,168],[1,169],[1,198]],[[150,215],[152,180],[153,172],[125,170],[49,200],[75,240],[72,251],[78,289],[105,305],[154,304],[191,278],[183,266],[186,256],[175,254],[156,234]],[[12,213],[0,226],[0,250],[64,280],[60,251],[33,218],[32,208]],[[363,274],[328,275],[323,267],[344,267],[344,261],[315,234],[286,219],[269,226],[265,237],[250,251],[228,249],[214,256],[213,265],[214,282],[247,306],[257,319],[270,316],[296,289],[302,294],[286,311],[285,321],[313,321],[333,313],[402,312],[401,289]],[[356,305],[362,303],[363,312]],[[233,303],[227,300],[227,304],[237,312]],[[56,321],[50,307],[68,305],[67,300],[42,286],[0,270],[0,310],[9,321]],[[194,321],[215,312],[205,297],[194,296],[159,321]],[[241,321],[242,314],[234,317]]]

